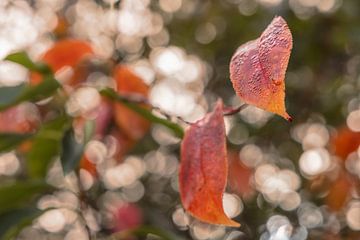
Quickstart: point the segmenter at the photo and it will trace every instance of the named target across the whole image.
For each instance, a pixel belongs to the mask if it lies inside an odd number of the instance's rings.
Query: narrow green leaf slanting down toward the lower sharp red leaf
[[[178,124],[173,123],[167,119],[163,119],[163,118],[155,116],[148,109],[141,107],[137,103],[130,102],[127,98],[118,95],[114,90],[112,90],[110,88],[106,88],[106,89],[101,90],[100,94],[103,96],[106,96],[112,100],[115,100],[117,102],[124,104],[126,107],[130,108],[134,112],[138,113],[139,115],[141,115],[142,117],[146,118],[147,120],[149,120],[153,123],[158,123],[158,124],[164,125],[165,127],[171,129],[177,137],[183,138],[184,130],[181,126],[179,126]]]

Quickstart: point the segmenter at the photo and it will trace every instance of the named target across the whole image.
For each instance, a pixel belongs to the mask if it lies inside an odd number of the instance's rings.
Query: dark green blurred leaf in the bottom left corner
[[[20,208],[0,215],[0,239],[14,239],[20,231],[30,225],[42,213],[37,208]]]

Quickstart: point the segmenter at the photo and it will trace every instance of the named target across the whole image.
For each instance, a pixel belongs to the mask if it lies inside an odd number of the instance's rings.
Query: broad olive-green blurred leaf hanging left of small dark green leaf
[[[61,139],[69,125],[69,118],[60,116],[45,123],[39,130],[27,154],[26,163],[30,176],[41,178],[46,175],[50,163],[59,154]]]

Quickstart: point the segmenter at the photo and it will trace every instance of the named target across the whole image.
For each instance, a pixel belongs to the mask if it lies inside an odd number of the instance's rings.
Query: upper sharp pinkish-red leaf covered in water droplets
[[[291,32],[275,17],[261,36],[241,45],[230,62],[230,79],[246,103],[291,121],[285,109],[285,72],[292,49]]]

